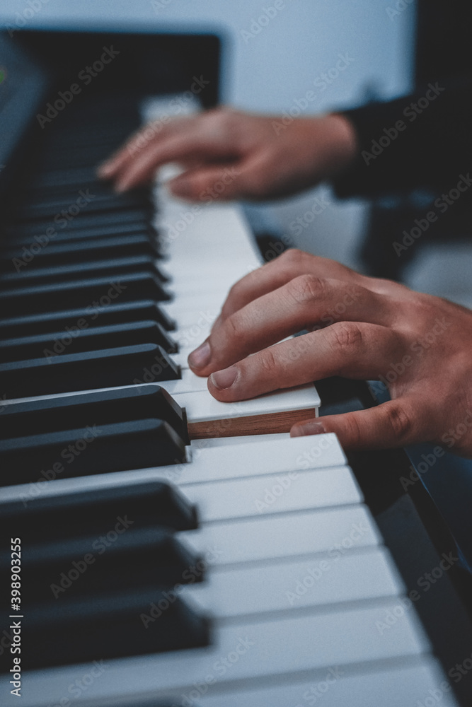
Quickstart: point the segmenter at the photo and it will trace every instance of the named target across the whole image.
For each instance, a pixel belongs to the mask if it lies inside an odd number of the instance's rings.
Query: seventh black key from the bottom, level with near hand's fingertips
[[[20,339],[0,339],[0,362],[25,361],[29,358],[61,356],[79,351],[116,349],[134,344],[159,344],[168,354],[175,354],[178,345],[156,322],[88,327],[74,332],[53,332]]]

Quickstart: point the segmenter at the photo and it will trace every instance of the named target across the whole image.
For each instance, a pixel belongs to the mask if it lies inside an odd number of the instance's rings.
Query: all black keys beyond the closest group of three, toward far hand
[[[28,423],[13,427],[6,420],[24,418],[25,406],[4,405],[4,485],[35,482],[54,463],[64,467],[63,476],[76,476],[180,462],[188,441],[182,412],[174,414],[163,392],[143,386],[138,400],[131,387],[144,380],[146,370],[156,382],[179,378],[180,370],[169,356],[177,350],[168,333],[173,322],[159,308],[169,296],[156,267],[159,239],[150,225],[149,194],[144,189],[117,195],[94,175],[96,163],[129,132],[129,124],[110,136],[105,119],[93,132],[84,119],[70,122],[43,149],[41,170],[5,228],[0,396],[129,389],[119,394],[120,402],[115,398],[113,410],[103,407],[106,395],[69,398],[67,406],[59,399],[40,404],[35,419],[49,421],[40,431],[32,422],[35,403],[26,406]],[[91,187],[81,191],[93,199],[46,242],[54,214],[67,209],[84,181]],[[62,406],[60,421],[45,414],[47,405]],[[62,464],[64,450],[90,436],[89,426],[100,434],[86,454]],[[64,453],[69,460],[74,450]]]

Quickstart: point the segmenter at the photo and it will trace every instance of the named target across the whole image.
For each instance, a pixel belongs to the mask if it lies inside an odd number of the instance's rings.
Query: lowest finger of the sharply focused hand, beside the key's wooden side
[[[418,398],[401,397],[368,410],[328,415],[294,425],[292,437],[334,432],[345,450],[391,449],[433,440],[432,431],[418,414]]]

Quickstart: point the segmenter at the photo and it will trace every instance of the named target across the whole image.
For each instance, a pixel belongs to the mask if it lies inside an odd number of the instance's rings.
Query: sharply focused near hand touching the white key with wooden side
[[[431,441],[472,457],[471,352],[470,310],[288,250],[231,288],[189,364],[224,402],[331,375],[381,380],[388,402],[297,423],[292,436],[335,432],[345,450]]]

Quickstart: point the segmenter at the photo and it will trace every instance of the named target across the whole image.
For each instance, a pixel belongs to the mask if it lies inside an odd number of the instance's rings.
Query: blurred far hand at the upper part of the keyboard
[[[223,107],[147,125],[100,165],[98,177],[124,192],[151,180],[162,165],[180,163],[184,172],[168,184],[175,196],[272,199],[343,171],[356,151],[355,130],[343,115],[284,124],[281,117]],[[217,184],[224,189],[217,192]]]

